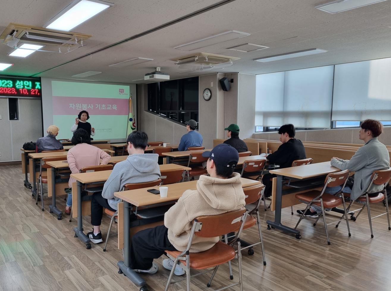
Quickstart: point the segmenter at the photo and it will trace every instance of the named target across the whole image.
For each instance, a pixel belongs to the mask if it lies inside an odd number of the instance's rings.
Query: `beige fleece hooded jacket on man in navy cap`
[[[164,216],[168,239],[178,251],[186,250],[193,220],[198,216],[217,215],[244,207],[244,192],[239,173],[229,179],[202,175],[197,190],[186,190],[178,202]],[[219,237],[194,236],[190,252],[198,253],[212,248]]]

